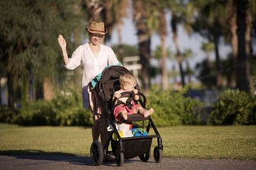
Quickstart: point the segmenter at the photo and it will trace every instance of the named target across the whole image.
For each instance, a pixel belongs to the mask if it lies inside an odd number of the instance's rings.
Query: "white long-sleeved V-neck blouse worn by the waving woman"
[[[109,64],[118,64],[116,55],[109,46],[100,45],[99,55],[94,57],[89,43],[78,46],[65,67],[73,70],[78,67],[81,62],[83,64],[83,87],[88,85],[93,77],[101,73]]]

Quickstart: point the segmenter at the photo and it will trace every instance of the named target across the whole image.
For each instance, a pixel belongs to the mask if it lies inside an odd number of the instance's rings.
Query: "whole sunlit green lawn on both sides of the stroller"
[[[164,157],[256,159],[256,126],[176,126],[157,128]],[[20,127],[0,124],[0,154],[90,155],[92,129]],[[153,139],[153,147],[157,145]]]

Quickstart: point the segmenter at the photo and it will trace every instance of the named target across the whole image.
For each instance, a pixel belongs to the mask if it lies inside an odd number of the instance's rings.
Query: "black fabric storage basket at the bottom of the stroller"
[[[124,158],[132,159],[143,155],[144,153],[150,152],[150,146],[152,144],[152,138],[156,136],[143,136],[143,137],[132,137],[132,138],[122,138],[122,145],[124,148]],[[118,149],[119,141],[111,141],[111,147],[115,153]]]

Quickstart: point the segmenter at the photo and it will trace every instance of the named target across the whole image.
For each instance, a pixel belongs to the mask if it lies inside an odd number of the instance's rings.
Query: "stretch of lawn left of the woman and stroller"
[[[10,127],[10,128],[8,128]],[[0,125],[0,150],[13,153],[89,155],[92,130],[84,127]]]

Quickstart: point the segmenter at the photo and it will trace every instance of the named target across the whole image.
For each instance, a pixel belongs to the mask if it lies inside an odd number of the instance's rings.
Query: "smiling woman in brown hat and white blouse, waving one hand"
[[[67,43],[61,34],[58,37],[58,41],[67,69],[73,70],[77,66],[80,66],[81,62],[83,64],[83,107],[89,108],[93,113],[93,141],[99,139],[100,135],[102,145],[104,146],[106,139],[108,139],[107,122],[104,118],[100,117],[100,106],[97,103],[97,95],[93,94],[95,93],[94,90],[88,88],[88,85],[94,76],[97,76],[97,74],[103,71],[104,67],[109,64],[118,64],[118,60],[109,46],[102,45],[104,35],[108,32],[108,29],[105,30],[103,22],[93,21],[86,27],[86,31],[89,33],[90,42],[78,46],[71,58],[68,58]]]

